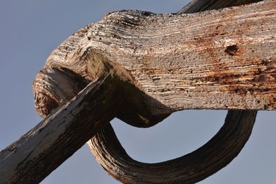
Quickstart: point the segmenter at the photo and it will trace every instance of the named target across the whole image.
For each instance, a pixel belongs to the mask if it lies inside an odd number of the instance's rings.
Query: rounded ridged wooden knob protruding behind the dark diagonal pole
[[[32,84],[34,107],[40,116],[46,117],[59,105],[72,99],[86,85],[83,77],[67,68],[43,69]]]

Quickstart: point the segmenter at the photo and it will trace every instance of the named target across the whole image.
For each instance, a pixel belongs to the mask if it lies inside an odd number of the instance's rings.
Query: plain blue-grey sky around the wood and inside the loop
[[[41,121],[34,111],[32,81],[52,50],[84,25],[122,9],[177,12],[184,0],[1,0],[0,150]],[[115,132],[130,156],[159,162],[188,154],[224,123],[226,111],[183,111],[155,127],[139,129],[119,120]],[[201,184],[276,183],[276,113],[259,112],[250,140],[232,163]],[[87,145],[41,183],[118,183],[95,161]]]

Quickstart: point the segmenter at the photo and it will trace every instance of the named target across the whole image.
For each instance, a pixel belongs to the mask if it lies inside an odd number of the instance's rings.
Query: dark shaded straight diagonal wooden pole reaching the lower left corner
[[[90,83],[72,101],[0,152],[0,183],[39,183],[111,121],[124,99],[112,76]]]

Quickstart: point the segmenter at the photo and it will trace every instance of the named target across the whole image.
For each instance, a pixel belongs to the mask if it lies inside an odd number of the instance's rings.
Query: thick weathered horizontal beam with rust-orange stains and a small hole
[[[85,58],[101,52],[144,92],[122,113],[137,126],[146,126],[139,116],[155,125],[185,109],[274,110],[275,12],[275,0],[196,14],[112,12],[64,41],[45,68],[90,81],[99,71]]]

